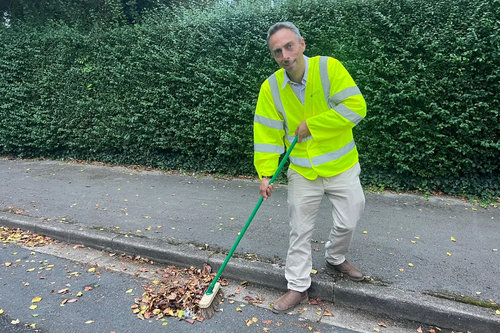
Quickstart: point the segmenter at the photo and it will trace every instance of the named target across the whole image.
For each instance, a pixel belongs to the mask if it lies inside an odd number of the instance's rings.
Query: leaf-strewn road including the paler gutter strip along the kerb
[[[89,272],[90,268],[95,271]],[[281,295],[279,291],[253,285],[242,287],[241,281],[232,280],[223,288],[226,299],[219,306],[220,311],[210,320],[190,324],[172,317],[160,321],[138,319],[131,306],[141,297],[143,286],[161,279],[166,269],[169,267],[165,265],[66,243],[36,248],[3,244],[0,309],[4,313],[0,315],[0,332],[352,333],[378,329],[384,333],[414,333],[419,327],[423,332],[430,328],[322,300],[298,306],[289,314],[276,315],[269,310],[269,304]],[[89,286],[91,290],[87,290]],[[68,292],[60,293],[64,289]],[[41,300],[33,303],[35,297]],[[262,304],[251,305],[248,297],[261,299]],[[64,299],[78,300],[62,306]],[[247,326],[253,318],[257,322]],[[34,327],[28,327],[33,324]],[[449,333],[444,329],[441,332]]]

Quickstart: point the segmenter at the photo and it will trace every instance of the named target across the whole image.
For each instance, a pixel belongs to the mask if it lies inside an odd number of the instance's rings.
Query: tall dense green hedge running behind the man
[[[0,28],[0,154],[253,174],[269,26],[343,62],[366,185],[500,196],[500,0],[241,1]]]

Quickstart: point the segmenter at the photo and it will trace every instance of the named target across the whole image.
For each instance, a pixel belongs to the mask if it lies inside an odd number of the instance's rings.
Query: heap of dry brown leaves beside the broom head
[[[214,277],[208,264],[203,265],[203,269],[169,266],[163,272],[162,281],[143,286],[142,298],[135,300],[132,311],[140,319],[172,316],[190,323],[203,321],[197,316],[198,303]],[[227,282],[221,281],[221,284],[227,285]]]

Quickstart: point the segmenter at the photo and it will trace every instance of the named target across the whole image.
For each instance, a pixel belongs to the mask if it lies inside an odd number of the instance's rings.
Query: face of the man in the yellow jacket
[[[269,49],[274,60],[287,72],[293,73],[301,69],[303,65],[305,66],[303,53],[306,44],[304,38],[298,40],[289,29],[283,28],[276,31],[269,39]]]

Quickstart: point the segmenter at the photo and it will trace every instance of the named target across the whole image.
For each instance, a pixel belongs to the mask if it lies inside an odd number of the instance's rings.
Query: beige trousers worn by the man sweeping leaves
[[[332,265],[344,262],[356,224],[365,208],[365,195],[356,163],[339,175],[308,180],[288,169],[288,215],[290,244],[285,266],[288,289],[299,292],[311,286],[311,238],[319,205],[326,195],[332,203],[333,227],[326,242],[326,260]]]

